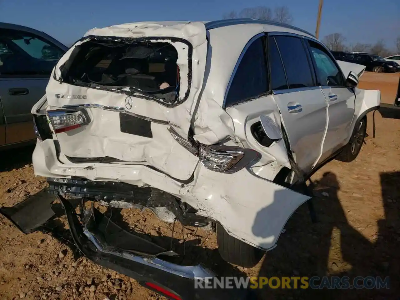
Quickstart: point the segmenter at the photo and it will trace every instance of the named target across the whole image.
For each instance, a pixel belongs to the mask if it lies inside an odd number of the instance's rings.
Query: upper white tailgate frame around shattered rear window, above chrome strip
[[[178,52],[177,64],[180,68],[180,82],[182,82],[180,98],[189,90],[187,99],[178,106],[168,106],[160,105],[160,102],[143,99],[140,96],[132,96],[129,93],[116,93],[65,83],[60,84],[57,81],[61,76],[60,66],[68,60],[76,46],[83,44],[91,36],[98,36],[99,38],[109,37],[116,40],[118,38],[134,40],[149,37],[148,41],[150,42],[169,42]],[[188,46],[179,39],[188,42],[192,50],[190,51]],[[187,138],[192,106],[196,103],[198,93],[202,87],[206,55],[206,29],[202,22],[132,23],[100,29],[94,28],[85,34],[83,40],[72,46],[56,65],[54,69],[56,80],[51,78],[46,88],[48,103],[51,106],[59,108],[65,105],[76,104],[99,104],[102,106],[126,108],[128,111],[132,110],[137,115],[167,122],[174,126],[182,137]],[[57,94],[63,97],[57,98]],[[74,98],[72,97],[73,95],[86,97],[84,99]],[[128,107],[125,106],[127,96],[130,96],[133,102]]]

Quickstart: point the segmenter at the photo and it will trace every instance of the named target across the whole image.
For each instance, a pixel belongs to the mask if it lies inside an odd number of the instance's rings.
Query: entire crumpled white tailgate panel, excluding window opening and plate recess
[[[149,37],[149,42],[172,44],[178,52],[178,102],[184,101],[167,105],[138,94],[132,95],[125,90],[116,92],[65,82],[60,84],[60,66],[67,62],[74,47],[96,36],[116,40]],[[85,38],[60,59],[54,69],[54,78],[50,78],[46,88],[50,106],[48,110],[80,106],[86,109],[91,120],[74,132],[57,134],[62,162],[68,163],[68,157],[113,157],[124,162],[151,165],[173,178],[188,180],[196,168],[198,158],[176,143],[168,128],[172,126],[182,138],[188,138],[192,108],[196,105],[203,84],[206,55],[206,30],[201,22],[134,23],[89,30]],[[121,132],[121,112],[148,120],[153,138]]]

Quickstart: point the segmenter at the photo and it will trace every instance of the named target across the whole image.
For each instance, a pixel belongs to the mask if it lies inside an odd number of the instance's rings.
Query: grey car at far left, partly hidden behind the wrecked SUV
[[[0,22],[0,150],[35,141],[30,110],[67,49],[44,32]]]

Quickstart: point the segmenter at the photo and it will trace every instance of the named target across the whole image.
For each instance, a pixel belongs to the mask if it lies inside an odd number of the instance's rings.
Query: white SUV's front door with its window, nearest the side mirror
[[[329,51],[314,40],[306,40],[306,43],[311,53],[318,84],[328,100],[328,130],[319,159],[321,162],[344,146],[348,140],[356,98],[354,90],[344,86],[344,75]]]

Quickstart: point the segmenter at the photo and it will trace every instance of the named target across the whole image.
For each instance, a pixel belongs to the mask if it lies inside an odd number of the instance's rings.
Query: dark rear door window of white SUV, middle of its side
[[[308,61],[308,54],[302,40],[294,36],[275,36],[289,88],[307,88],[315,86]]]

